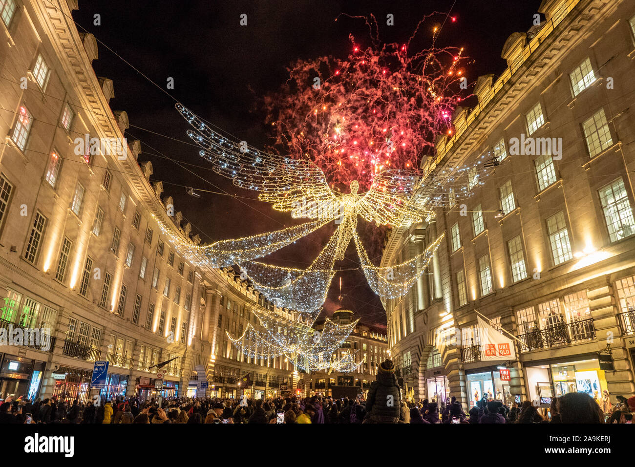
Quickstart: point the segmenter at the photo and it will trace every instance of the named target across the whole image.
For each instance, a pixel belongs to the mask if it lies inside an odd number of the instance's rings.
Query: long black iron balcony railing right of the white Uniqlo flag
[[[573,323],[556,325],[545,329],[537,329],[520,334],[521,352],[536,349],[563,346],[572,342],[589,341],[595,339],[596,330],[593,320],[574,321]]]

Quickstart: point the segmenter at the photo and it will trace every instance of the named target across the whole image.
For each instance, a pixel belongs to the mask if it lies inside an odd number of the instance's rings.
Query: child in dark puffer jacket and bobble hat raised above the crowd
[[[363,423],[399,423],[401,407],[399,384],[392,360],[379,365],[377,379],[370,383]]]

